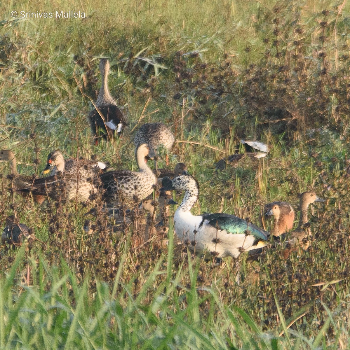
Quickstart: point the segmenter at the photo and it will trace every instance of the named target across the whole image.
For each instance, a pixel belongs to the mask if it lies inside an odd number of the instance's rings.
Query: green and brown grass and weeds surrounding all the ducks
[[[265,203],[297,209],[311,189],[326,199],[311,208],[307,251],[242,253],[236,267],[180,248],[171,219],[148,239],[138,215],[115,233],[98,212],[87,233],[94,203],[36,205],[8,190],[1,163],[1,227],[15,215],[42,242],[1,247],[1,349],[348,348],[349,3],[3,1],[0,10],[0,149],[16,154],[19,173],[40,176],[54,149],[136,169],[135,130],[162,121],[177,139],[171,166],[186,163],[200,184],[196,213],[269,229]],[[22,19],[22,10],[86,18]],[[87,115],[99,57],[110,60],[129,127],[95,146]],[[245,138],[270,154],[216,170]]]

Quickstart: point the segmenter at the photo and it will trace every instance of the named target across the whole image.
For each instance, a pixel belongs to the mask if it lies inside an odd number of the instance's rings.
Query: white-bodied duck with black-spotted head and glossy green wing
[[[185,190],[184,198],[174,214],[174,230],[182,241],[194,245],[195,253],[210,252],[214,257],[238,258],[242,251],[264,246],[267,232],[230,214],[193,215],[191,208],[198,199],[198,182],[191,175],[164,178],[164,190]]]

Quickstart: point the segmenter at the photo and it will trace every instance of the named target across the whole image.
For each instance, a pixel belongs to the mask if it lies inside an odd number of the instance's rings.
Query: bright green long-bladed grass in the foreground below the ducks
[[[316,349],[325,342],[324,334],[334,323],[330,315],[314,341],[301,337],[296,344],[289,336],[262,332],[248,313],[234,306],[228,308],[210,288],[196,287],[199,264],[197,261],[193,266],[191,260],[187,268],[180,266],[176,276],[160,284],[152,301],[146,303],[147,290],[157,275],[172,275],[171,270],[162,268],[163,259],[149,271],[135,299],[132,283],[120,286],[120,293],[113,296],[107,283],[96,281],[95,292],[90,294],[88,279],[79,283],[64,260],[60,267],[49,268],[43,259],[29,259],[33,284],[25,286],[15,278],[23,251],[19,251],[9,274],[0,279],[2,349],[19,344],[32,349],[43,345],[46,349]],[[181,274],[190,276],[190,287],[181,286]],[[21,287],[18,291],[13,290],[14,283]],[[183,294],[173,298],[179,288]],[[203,303],[208,305],[206,314],[201,311]],[[282,324],[288,335],[286,323]]]

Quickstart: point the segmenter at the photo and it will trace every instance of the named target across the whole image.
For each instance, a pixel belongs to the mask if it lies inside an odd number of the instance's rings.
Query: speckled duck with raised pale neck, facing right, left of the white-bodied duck
[[[152,193],[157,178],[145,162],[148,153],[149,148],[146,144],[141,144],[136,148],[135,157],[139,172],[114,170],[99,175],[105,200],[120,203],[122,199],[125,204],[129,205],[144,200]]]

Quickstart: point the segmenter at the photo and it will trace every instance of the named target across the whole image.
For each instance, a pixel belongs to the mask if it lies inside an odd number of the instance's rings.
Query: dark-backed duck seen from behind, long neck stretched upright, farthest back
[[[99,70],[102,80],[101,89],[95,104],[96,108],[94,107],[89,114],[90,126],[96,142],[98,142],[99,137],[107,140],[115,134],[121,133],[127,125],[122,111],[108,90],[109,62],[107,58],[101,58]]]

